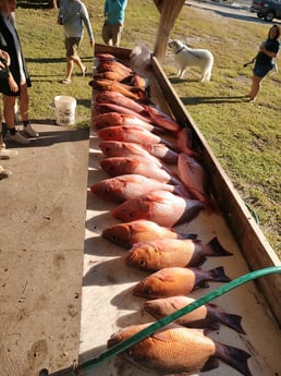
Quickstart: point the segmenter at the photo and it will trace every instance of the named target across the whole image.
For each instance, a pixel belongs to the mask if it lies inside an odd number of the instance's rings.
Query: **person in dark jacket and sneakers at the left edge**
[[[9,138],[19,144],[28,144],[27,137],[39,137],[29,122],[29,97],[27,87],[32,86],[29,73],[22,52],[20,38],[14,25],[12,12],[16,0],[0,0],[0,48],[11,59],[8,78],[2,80],[0,93],[3,94],[3,116],[9,130]],[[23,121],[23,134],[15,128],[14,106],[20,99],[20,112]]]

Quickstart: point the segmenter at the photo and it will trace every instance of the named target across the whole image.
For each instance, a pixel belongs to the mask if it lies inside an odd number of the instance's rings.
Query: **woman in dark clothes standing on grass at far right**
[[[259,47],[253,70],[252,88],[248,95],[251,102],[256,100],[262,80],[274,66],[274,59],[280,49],[280,43],[278,40],[279,37],[280,26],[273,25],[269,29],[266,41],[264,41]]]

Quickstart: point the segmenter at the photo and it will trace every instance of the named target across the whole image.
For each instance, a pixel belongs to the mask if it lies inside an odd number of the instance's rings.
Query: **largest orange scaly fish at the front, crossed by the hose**
[[[131,338],[149,324],[131,325],[108,340],[108,348]],[[244,376],[252,376],[247,365],[251,355],[239,348],[217,342],[200,329],[169,324],[119,355],[157,375],[191,375],[219,367],[221,360]]]

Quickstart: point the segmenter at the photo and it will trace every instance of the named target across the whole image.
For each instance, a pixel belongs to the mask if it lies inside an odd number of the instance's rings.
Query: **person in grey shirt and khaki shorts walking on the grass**
[[[87,68],[81,61],[78,48],[83,38],[84,25],[87,29],[90,47],[95,46],[95,38],[86,5],[81,0],[62,0],[58,14],[58,24],[64,28],[64,46],[66,50],[66,75],[62,84],[71,84],[74,63],[80,68],[82,76]]]

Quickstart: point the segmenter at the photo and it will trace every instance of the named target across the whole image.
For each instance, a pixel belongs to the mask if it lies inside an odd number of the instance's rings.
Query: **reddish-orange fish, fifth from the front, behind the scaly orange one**
[[[131,248],[134,243],[158,238],[195,239],[195,234],[184,234],[172,228],[159,226],[150,220],[133,220],[126,223],[117,223],[102,231],[102,236],[124,248]]]

